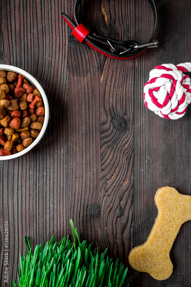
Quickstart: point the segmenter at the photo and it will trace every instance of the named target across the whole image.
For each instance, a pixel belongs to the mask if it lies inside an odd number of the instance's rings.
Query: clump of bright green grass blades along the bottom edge
[[[50,242],[36,245],[32,255],[29,238],[25,238],[26,257],[20,253],[21,275],[17,266],[20,287],[121,287],[127,268],[115,264],[108,256],[104,259],[107,249],[101,255],[91,245],[86,245],[86,240],[79,241],[76,229],[70,220],[74,242],[65,237],[54,243],[55,235]],[[76,246],[76,237],[78,244]],[[29,253],[27,250],[29,246]],[[13,287],[18,287],[16,280],[11,282]],[[128,285],[129,286],[129,285]]]

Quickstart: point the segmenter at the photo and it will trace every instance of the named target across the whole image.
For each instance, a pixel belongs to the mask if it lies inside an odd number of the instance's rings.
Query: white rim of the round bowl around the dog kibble
[[[11,154],[10,156],[0,156],[0,160],[10,160],[12,158],[17,158],[18,156],[22,156],[23,154],[26,154],[27,152],[29,152],[29,150],[34,148],[40,142],[40,140],[44,136],[44,133],[45,133],[47,125],[48,125],[49,106],[48,106],[48,100],[47,100],[46,94],[45,94],[42,86],[29,73],[27,73],[26,71],[24,71],[20,68],[15,67],[15,66],[3,65],[3,64],[0,64],[0,70],[11,71],[11,72],[17,73],[18,75],[23,75],[40,92],[40,94],[42,96],[42,100],[44,102],[44,108],[45,108],[44,124],[42,126],[42,130],[41,130],[40,134],[35,139],[35,141],[33,141],[33,143],[30,146],[28,146],[27,148],[25,148],[25,150],[22,150],[21,152],[17,152],[16,154]]]

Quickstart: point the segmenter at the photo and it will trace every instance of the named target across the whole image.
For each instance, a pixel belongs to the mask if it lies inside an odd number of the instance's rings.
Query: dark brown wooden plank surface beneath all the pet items
[[[83,23],[116,39],[147,42],[153,16],[146,0],[92,0]],[[90,3],[89,3],[90,2]],[[31,73],[44,88],[50,122],[28,154],[0,161],[0,274],[4,221],[9,221],[9,282],[16,278],[24,236],[33,248],[56,233],[97,242],[128,266],[124,286],[190,286],[190,222],[180,228],[165,281],[135,272],[130,250],[145,242],[157,215],[154,195],[169,185],[191,195],[191,107],[179,120],[147,110],[143,85],[158,64],[191,61],[190,0],[157,0],[158,48],[131,60],[102,56],[71,35],[61,18],[74,0],[1,0],[0,63]],[[103,17],[102,17],[102,16]],[[85,20],[84,20],[85,19]]]

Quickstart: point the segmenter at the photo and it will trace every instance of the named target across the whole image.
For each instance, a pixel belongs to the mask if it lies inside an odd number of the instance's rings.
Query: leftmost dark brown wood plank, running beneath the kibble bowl
[[[60,17],[62,10],[67,11],[67,1],[1,1],[1,7],[1,63],[31,73],[50,104],[50,123],[40,144],[21,158],[0,162],[0,285],[10,286],[3,284],[2,276],[4,221],[9,220],[9,282],[17,277],[24,236],[35,247],[54,233],[60,240],[69,232],[65,219],[68,27]]]

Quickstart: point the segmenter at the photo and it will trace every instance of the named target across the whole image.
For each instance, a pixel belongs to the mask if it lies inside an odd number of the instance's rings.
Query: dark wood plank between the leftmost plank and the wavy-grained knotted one
[[[97,13],[101,12],[99,0],[85,1],[80,6],[80,15],[90,29],[100,30],[101,19],[92,13],[93,7],[97,7]],[[80,44],[71,29],[68,41],[67,217],[76,224],[81,239],[95,244],[100,241],[101,55]]]

